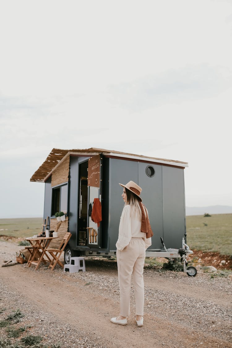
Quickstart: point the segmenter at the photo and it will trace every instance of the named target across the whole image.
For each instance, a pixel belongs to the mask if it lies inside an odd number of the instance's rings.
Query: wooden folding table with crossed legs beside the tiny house
[[[47,260],[45,260],[44,258],[45,255],[47,256],[48,260],[51,262],[51,259],[46,253],[46,248],[48,248],[51,240],[54,238],[58,238],[58,237],[25,238],[25,240],[27,240],[31,244],[31,247],[28,248],[29,252],[31,253],[30,258],[27,262],[28,267],[30,267],[31,264],[34,264],[36,265],[35,270],[37,270],[41,261],[43,261],[43,263],[47,263]],[[39,255],[39,260],[35,260],[36,255]]]

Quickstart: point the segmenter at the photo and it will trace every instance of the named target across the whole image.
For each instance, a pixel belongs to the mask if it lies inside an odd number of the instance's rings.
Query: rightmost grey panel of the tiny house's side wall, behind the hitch
[[[184,170],[162,167],[163,241],[166,248],[182,247],[185,234]]]

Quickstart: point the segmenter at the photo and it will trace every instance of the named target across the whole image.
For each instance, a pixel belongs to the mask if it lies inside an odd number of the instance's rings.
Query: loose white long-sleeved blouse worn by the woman
[[[145,249],[151,245],[151,238],[146,238],[146,234],[141,232],[141,220],[130,216],[130,205],[128,204],[123,208],[120,218],[117,249],[122,251],[130,243],[131,237],[143,238]]]

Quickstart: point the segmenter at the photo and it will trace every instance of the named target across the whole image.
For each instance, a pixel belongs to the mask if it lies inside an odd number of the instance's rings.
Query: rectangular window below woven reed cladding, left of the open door
[[[51,199],[51,216],[56,212],[67,211],[68,185],[62,185],[53,189]]]

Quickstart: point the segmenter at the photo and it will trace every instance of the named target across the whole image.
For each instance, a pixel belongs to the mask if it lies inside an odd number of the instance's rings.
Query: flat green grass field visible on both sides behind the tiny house
[[[42,217],[0,219],[0,235],[31,237],[42,230]],[[232,214],[186,216],[187,244],[192,250],[232,255]]]

